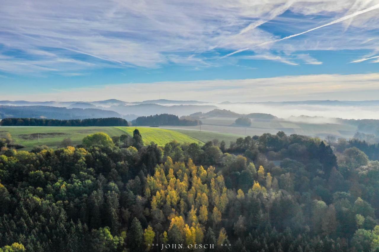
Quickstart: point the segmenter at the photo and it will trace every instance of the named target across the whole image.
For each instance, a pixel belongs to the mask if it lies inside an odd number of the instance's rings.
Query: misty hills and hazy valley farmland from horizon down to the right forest
[[[0,101],[0,104],[28,104],[0,105],[0,119],[13,117],[70,120],[119,117],[131,122],[141,116],[172,114],[183,120],[200,120],[204,131],[228,134],[254,135],[284,131],[286,134],[351,138],[356,132],[361,132],[370,134],[371,140],[371,135],[379,136],[379,101],[206,103],[174,100],[127,102],[111,99],[93,102]],[[239,117],[249,118],[251,126],[239,129],[241,126],[235,123]],[[178,127],[199,130],[197,126]]]

